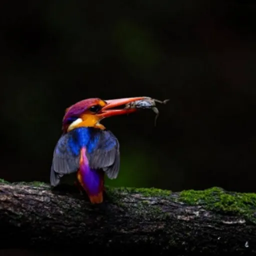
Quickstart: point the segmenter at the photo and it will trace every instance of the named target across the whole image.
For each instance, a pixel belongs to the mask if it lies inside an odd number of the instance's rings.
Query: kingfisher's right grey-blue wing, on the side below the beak
[[[89,154],[92,169],[102,169],[108,178],[116,178],[119,172],[119,142],[111,131],[102,130],[97,147]]]

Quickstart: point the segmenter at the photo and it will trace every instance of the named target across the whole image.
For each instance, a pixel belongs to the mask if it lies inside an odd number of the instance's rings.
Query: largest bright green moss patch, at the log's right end
[[[256,223],[256,194],[225,192],[212,187],[205,190],[184,190],[180,192],[180,201],[191,205],[200,204],[210,210],[232,212],[242,215]]]

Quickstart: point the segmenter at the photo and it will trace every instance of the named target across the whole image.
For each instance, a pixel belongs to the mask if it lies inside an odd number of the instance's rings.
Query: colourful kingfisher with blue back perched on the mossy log
[[[67,107],[62,119],[62,134],[53,150],[51,186],[55,187],[63,177],[75,174],[74,182],[80,191],[86,192],[92,204],[101,203],[104,176],[117,177],[120,153],[117,138],[100,120],[135,112],[136,108],[124,106],[144,98],[88,98]]]

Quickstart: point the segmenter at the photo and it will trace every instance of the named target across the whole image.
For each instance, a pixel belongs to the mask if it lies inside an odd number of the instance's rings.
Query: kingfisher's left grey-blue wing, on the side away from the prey
[[[68,145],[71,135],[71,133],[63,134],[54,148],[50,170],[52,186],[56,186],[63,175],[75,172],[79,167],[79,154],[75,154]]]

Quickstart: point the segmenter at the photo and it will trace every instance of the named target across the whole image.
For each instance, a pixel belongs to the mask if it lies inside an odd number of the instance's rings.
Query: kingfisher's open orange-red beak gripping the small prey
[[[145,97],[131,97],[131,98],[117,98],[117,99],[108,99],[105,100],[106,105],[102,107],[100,113],[97,114],[100,118],[105,118],[112,115],[120,115],[127,114],[136,111],[136,108],[120,108],[120,109],[112,109],[114,107],[118,107],[121,105],[125,105],[132,101],[140,100]],[[123,106],[124,107],[124,106]]]

